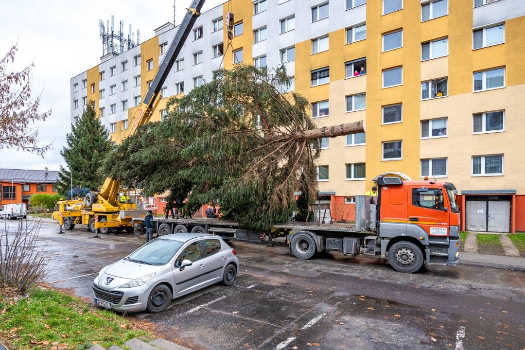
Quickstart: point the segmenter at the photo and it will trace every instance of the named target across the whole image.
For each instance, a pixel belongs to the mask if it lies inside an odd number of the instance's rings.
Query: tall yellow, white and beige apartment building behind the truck
[[[92,101],[119,142],[175,32],[167,23],[72,78],[72,122]],[[320,142],[333,219],[353,215],[375,176],[401,172],[453,182],[462,229],[525,230],[522,33],[521,0],[232,0],[197,19],[152,120],[218,68],[284,65],[317,125],[365,121],[365,134]]]

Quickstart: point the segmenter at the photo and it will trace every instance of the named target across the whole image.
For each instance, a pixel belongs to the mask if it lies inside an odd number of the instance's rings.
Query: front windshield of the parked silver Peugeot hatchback
[[[183,244],[184,242],[173,239],[154,239],[129,254],[125,260],[148,265],[165,265]]]

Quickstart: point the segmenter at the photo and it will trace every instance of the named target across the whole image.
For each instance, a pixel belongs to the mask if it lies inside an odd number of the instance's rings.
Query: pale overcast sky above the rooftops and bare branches
[[[203,11],[225,0],[207,0]],[[191,0],[175,0],[177,24]],[[32,96],[40,95],[40,109],[51,109],[48,120],[38,125],[39,143],[52,143],[44,157],[16,150],[2,150],[0,168],[58,170],[64,160],[60,150],[71,128],[71,77],[100,63],[102,40],[99,19],[115,16],[124,21],[124,33],[131,23],[141,41],[154,36],[153,29],[173,22],[173,0],[2,0],[0,21],[0,57],[18,42],[15,62],[8,70],[23,68],[34,62],[31,71]],[[135,37],[136,39],[136,37]]]

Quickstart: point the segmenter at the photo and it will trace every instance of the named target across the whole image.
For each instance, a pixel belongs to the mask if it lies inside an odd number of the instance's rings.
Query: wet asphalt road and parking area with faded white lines
[[[49,223],[40,231],[47,282],[89,298],[100,268],[144,239],[91,238],[82,226],[57,231]],[[330,253],[305,261],[286,247],[232,246],[241,264],[232,287],[214,285],[160,314],[133,317],[193,349],[525,348],[525,272],[432,266],[404,274],[377,259]]]

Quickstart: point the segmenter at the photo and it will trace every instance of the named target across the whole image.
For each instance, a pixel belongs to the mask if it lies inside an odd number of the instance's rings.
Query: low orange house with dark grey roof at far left
[[[56,194],[58,172],[53,170],[0,169],[0,205],[29,203],[34,194]]]

